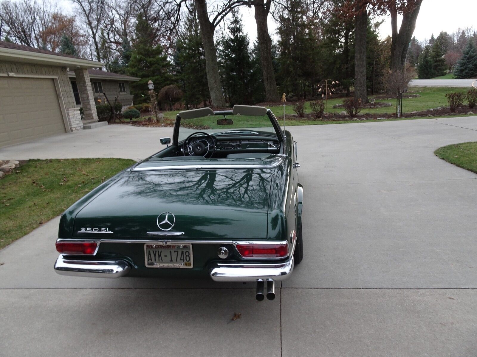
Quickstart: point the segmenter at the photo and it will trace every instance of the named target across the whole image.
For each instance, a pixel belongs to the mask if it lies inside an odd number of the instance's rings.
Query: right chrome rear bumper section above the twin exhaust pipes
[[[214,281],[285,280],[293,271],[293,265],[293,257],[279,264],[217,263],[210,268],[210,278]]]

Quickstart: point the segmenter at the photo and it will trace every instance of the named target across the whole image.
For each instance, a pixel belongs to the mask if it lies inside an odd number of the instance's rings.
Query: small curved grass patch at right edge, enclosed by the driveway
[[[434,151],[436,156],[462,169],[477,174],[477,142],[464,142],[443,146]]]

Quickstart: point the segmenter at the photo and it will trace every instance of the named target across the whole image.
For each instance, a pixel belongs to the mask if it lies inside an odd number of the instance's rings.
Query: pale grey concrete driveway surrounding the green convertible
[[[250,284],[59,276],[55,218],[0,251],[0,356],[476,356],[477,175],[433,151],[477,141],[477,117],[290,130],[305,258],[274,301]],[[139,159],[168,133],[109,126],[0,158]]]

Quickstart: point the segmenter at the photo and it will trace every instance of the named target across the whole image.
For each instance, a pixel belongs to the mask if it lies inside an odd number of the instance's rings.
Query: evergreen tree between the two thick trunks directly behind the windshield
[[[218,49],[219,73],[229,105],[253,104],[252,60],[249,37],[243,32],[242,19],[232,11],[228,34],[220,40]]]

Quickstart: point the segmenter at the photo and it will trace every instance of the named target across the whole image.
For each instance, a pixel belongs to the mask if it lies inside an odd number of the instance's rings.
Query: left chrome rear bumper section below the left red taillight
[[[119,278],[130,270],[124,260],[77,260],[60,254],[55,263],[55,271],[60,275],[89,278]]]

